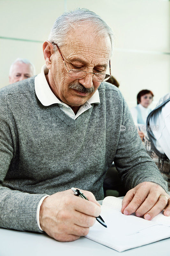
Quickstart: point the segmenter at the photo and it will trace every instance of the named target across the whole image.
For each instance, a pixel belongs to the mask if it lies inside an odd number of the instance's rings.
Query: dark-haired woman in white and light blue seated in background
[[[139,127],[138,134],[141,140],[144,140],[144,132],[142,127],[146,126],[146,118],[149,113],[152,111],[151,108],[148,108],[153,99],[153,92],[150,90],[142,90],[137,94],[137,106],[131,108],[131,114],[134,120],[135,125]]]

